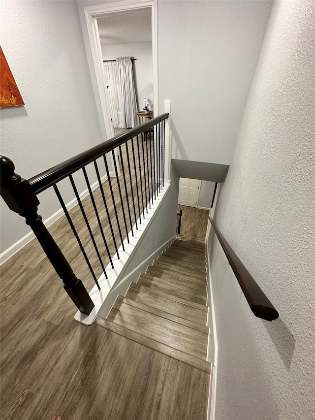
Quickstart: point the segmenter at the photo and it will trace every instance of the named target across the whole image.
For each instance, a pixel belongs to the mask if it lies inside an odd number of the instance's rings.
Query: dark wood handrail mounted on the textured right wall
[[[238,258],[220,230],[216,227],[214,221],[210,217],[209,220],[253,314],[266,321],[276,320],[279,317],[278,311],[257,285],[243,262]]]

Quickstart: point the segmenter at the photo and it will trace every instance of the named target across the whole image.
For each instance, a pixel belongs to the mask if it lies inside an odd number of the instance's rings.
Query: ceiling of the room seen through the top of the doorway
[[[152,40],[150,7],[107,13],[97,18],[97,25],[101,45]]]

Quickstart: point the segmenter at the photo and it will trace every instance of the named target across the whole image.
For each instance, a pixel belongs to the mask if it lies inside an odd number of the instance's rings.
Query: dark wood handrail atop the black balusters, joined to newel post
[[[95,161],[95,159],[105,155],[106,153],[125,143],[127,140],[130,140],[136,135],[141,134],[142,132],[154,127],[156,124],[160,123],[163,120],[166,120],[167,118],[168,113],[166,112],[165,114],[159,115],[158,117],[155,117],[152,120],[140,124],[139,126],[134,127],[133,129],[124,131],[116,135],[115,137],[104,141],[103,143],[98,144],[97,146],[92,147],[91,149],[80,153],[79,155],[74,156],[71,159],[68,159],[67,161],[59,163],[58,165],[53,166],[52,168],[33,176],[29,179],[29,182],[32,185],[34,193],[41,193],[42,191],[56,184],[56,182],[61,181],[63,178],[66,178],[67,176],[77,171],[78,169],[81,169],[88,163]]]

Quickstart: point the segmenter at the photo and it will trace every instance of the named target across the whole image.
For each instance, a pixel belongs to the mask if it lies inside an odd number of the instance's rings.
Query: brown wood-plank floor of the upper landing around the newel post
[[[117,182],[111,180],[119,198]],[[104,184],[110,203],[108,181]],[[108,237],[111,233],[99,189],[94,194]],[[83,204],[90,217],[94,212],[91,199],[87,197]],[[121,206],[117,210],[123,221]],[[113,206],[109,205],[109,212],[115,220]],[[78,206],[70,215],[98,277],[102,270]],[[119,243],[117,223],[113,229]],[[90,290],[93,278],[65,217],[49,230]],[[93,231],[101,244],[97,226]],[[113,252],[114,244],[109,243],[109,248]],[[106,265],[105,251],[102,258]],[[157,306],[166,301],[162,296],[157,300]],[[206,419],[209,373],[98,325],[76,323],[75,308],[62,281],[36,240],[2,264],[0,303],[1,419],[46,420],[53,414],[63,420]],[[163,308],[165,312],[167,306]],[[180,318],[179,306],[175,308],[174,317]],[[162,309],[158,306],[157,310]],[[206,316],[194,307],[187,313],[183,321],[187,327]]]

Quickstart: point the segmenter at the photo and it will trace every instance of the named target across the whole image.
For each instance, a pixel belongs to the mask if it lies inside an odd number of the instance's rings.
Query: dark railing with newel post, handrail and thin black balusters
[[[86,227],[90,234],[91,242],[93,243],[94,251],[97,255],[98,262],[107,278],[105,271],[105,264],[101,258],[100,247],[95,241],[95,228],[99,229],[102,237],[102,249],[106,249],[111,266],[114,268],[112,255],[109,251],[109,242],[115,248],[117,258],[119,258],[118,246],[119,242],[124,248],[124,239],[129,243],[129,234],[133,236],[133,222],[135,228],[138,229],[137,220],[141,224],[141,219],[146,217],[148,207],[151,208],[154,201],[161,193],[161,189],[165,185],[165,121],[168,118],[168,113],[164,113],[152,120],[147,121],[140,126],[124,131],[121,134],[107,140],[86,152],[83,152],[65,162],[62,162],[51,169],[42,172],[31,179],[23,179],[20,175],[14,172],[14,163],[5,156],[0,157],[1,168],[1,196],[8,205],[8,207],[20,216],[23,216],[27,225],[31,226],[35,236],[37,237],[46,256],[52,263],[59,277],[63,280],[64,290],[68,293],[76,307],[82,314],[89,315],[93,308],[94,302],[89,296],[88,291],[83,285],[82,281],[73,273],[73,270],[63,255],[63,252],[55,242],[54,238],[48,231],[47,227],[42,221],[42,217],[37,213],[39,200],[37,194],[52,187],[60,201],[65,217],[72,229],[72,232],[77,240],[83,257],[89,267],[92,277],[100,290],[95,270],[87,256],[85,247],[83,246],[80,232],[75,227],[74,221],[71,219],[69,210],[63,200],[63,196],[58,188],[58,183],[65,178],[68,178],[76,196],[76,200],[82,217],[85,221]],[[117,148],[120,162],[117,163],[115,159],[114,150]],[[115,175],[117,180],[118,192],[113,191],[113,182],[110,178],[106,154],[111,153],[113,156],[113,163]],[[125,162],[124,162],[125,156]],[[109,202],[104,194],[104,185],[101,180],[99,162],[103,162],[106,169],[108,180],[108,187],[111,194],[111,206],[115,212],[115,226],[118,227],[119,234],[114,233],[113,220],[109,214]],[[93,163],[95,175],[97,178],[97,188],[99,188],[102,205],[106,210],[107,223],[110,227],[110,236],[104,234],[104,221],[101,220],[98,205],[95,201],[95,193],[92,191],[88,172],[86,166]],[[118,164],[121,166],[122,175],[119,176]],[[84,179],[87,184],[88,193],[95,213],[94,225],[92,226],[89,220],[82,199],[80,197],[78,188],[73,178],[73,174],[82,170]],[[122,208],[122,215],[118,212],[118,207]],[[112,207],[111,207],[112,208]],[[92,227],[93,228],[92,228]],[[96,226],[96,227],[95,227]],[[129,233],[128,233],[129,232]],[[105,248],[104,248],[105,247]]]

